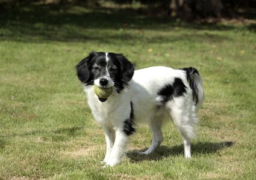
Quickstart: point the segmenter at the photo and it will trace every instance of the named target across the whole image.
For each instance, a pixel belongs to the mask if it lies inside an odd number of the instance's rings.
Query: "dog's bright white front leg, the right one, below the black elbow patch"
[[[123,130],[117,128],[116,130],[116,140],[114,141],[114,146],[112,148],[110,157],[107,161],[107,166],[114,166],[120,163],[120,160],[125,153],[126,145],[129,142],[129,136],[126,135]]]

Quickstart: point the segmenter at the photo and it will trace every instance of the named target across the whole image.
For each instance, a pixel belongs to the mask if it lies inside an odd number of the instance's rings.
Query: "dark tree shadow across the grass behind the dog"
[[[110,43],[114,38],[118,40],[139,40],[143,43],[151,41],[187,40],[187,38],[210,38],[223,40],[226,37],[204,34],[201,37],[180,34],[173,37],[164,36],[147,38],[143,32],[131,34],[126,30],[143,29],[173,31],[175,28],[208,29],[210,31],[225,31],[234,29],[234,26],[217,24],[198,24],[176,22],[173,19],[148,17],[141,11],[133,9],[94,8],[83,5],[20,5],[11,9],[1,10],[0,40],[41,42],[65,41],[84,42],[98,41]],[[174,30],[173,30],[174,29]],[[175,33],[176,34],[176,33]]]

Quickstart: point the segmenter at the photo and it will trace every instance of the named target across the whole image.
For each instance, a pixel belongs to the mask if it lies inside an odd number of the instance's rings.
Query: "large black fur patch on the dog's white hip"
[[[160,89],[158,95],[161,96],[162,101],[161,104],[166,103],[169,100],[172,100],[173,97],[179,97],[186,93],[186,86],[184,85],[183,81],[175,77],[173,83],[166,84],[163,88]]]

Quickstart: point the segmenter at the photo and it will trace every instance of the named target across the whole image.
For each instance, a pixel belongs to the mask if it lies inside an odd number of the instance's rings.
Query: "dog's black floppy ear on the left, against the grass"
[[[78,79],[83,83],[88,83],[90,77],[89,64],[92,58],[96,55],[95,52],[91,52],[89,56],[80,61],[76,66],[76,74]]]

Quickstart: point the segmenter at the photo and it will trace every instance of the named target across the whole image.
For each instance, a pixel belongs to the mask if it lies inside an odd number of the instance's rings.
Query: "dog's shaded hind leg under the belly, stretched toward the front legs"
[[[151,119],[150,129],[152,131],[152,144],[145,152],[139,152],[139,154],[150,154],[155,151],[158,146],[163,142],[163,134],[161,130],[162,122],[160,119]]]

